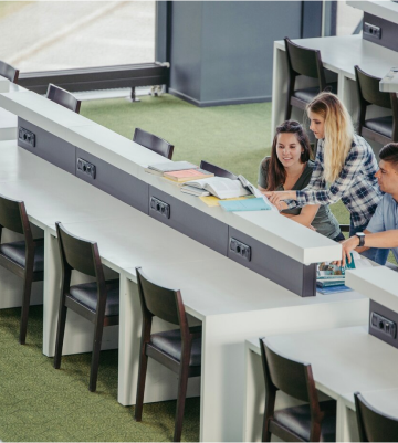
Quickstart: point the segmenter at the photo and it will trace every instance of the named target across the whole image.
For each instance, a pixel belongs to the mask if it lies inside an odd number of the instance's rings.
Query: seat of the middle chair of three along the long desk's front
[[[106,307],[105,316],[119,314],[119,281],[109,279],[106,282]],[[71,286],[70,295],[82,305],[86,306],[93,313],[97,307],[97,285],[93,283],[83,283],[82,285]]]

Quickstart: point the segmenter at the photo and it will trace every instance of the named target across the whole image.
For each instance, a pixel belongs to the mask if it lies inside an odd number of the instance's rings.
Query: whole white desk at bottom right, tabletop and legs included
[[[370,336],[366,326],[262,336],[277,352],[310,362],[316,388],[337,400],[337,442],[354,442],[356,435],[344,401],[353,409],[354,392],[379,391],[381,395],[398,388],[398,350]],[[245,442],[259,441],[264,389],[259,339],[251,339],[247,341]]]

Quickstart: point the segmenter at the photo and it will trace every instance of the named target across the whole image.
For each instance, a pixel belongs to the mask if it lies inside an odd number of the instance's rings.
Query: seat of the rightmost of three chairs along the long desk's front
[[[191,333],[200,333],[201,326],[189,328]],[[150,344],[161,351],[168,354],[176,360],[181,360],[181,334],[179,329],[166,330],[150,336]],[[201,363],[201,337],[193,338],[189,366]]]

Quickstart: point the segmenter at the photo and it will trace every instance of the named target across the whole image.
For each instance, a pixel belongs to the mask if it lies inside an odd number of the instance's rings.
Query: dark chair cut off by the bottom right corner
[[[397,443],[398,419],[377,411],[359,392],[354,398],[360,443]]]

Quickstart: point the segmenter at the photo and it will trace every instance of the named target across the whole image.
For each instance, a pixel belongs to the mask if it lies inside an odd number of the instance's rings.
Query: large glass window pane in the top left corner
[[[0,0],[0,29],[21,72],[155,60],[155,0]]]

